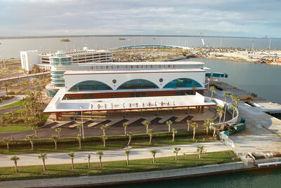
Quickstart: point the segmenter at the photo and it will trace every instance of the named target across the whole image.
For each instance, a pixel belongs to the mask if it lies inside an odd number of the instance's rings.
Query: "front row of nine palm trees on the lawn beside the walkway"
[[[204,146],[198,146],[197,147],[197,152],[199,153],[199,157],[198,159],[201,159],[201,155],[202,155],[202,152],[204,150]],[[174,147],[174,154],[175,154],[175,161],[178,161],[178,152],[181,151],[181,148],[180,147]],[[131,150],[129,149],[125,149],[125,155],[126,155],[126,166],[129,166],[129,154],[131,153]],[[152,163],[155,163],[155,155],[157,154],[157,150],[156,149],[152,149],[150,150],[150,153],[152,154]],[[103,152],[102,151],[97,151],[96,152],[96,155],[98,156],[98,159],[99,159],[99,167],[100,168],[103,168],[103,164],[102,164],[102,156],[103,156]],[[73,152],[70,152],[67,154],[67,156],[70,157],[71,159],[71,169],[74,169],[74,153]],[[91,154],[88,154],[87,156],[88,158],[88,163],[87,163],[87,168],[91,168]],[[47,170],[46,168],[46,159],[47,159],[47,154],[46,153],[40,153],[38,155],[38,159],[41,159],[42,160],[42,163],[43,163],[43,170]],[[11,157],[11,161],[14,162],[15,164],[15,173],[18,173],[18,161],[20,160],[20,158],[18,156],[12,156]]]

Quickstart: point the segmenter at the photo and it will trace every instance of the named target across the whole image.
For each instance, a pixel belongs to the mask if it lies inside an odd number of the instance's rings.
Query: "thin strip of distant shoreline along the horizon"
[[[263,37],[250,37],[250,36],[199,36],[199,35],[153,35],[153,34],[81,34],[81,35],[55,35],[55,36],[0,36],[0,39],[51,39],[51,38],[79,38],[79,37],[112,37],[112,36],[164,36],[164,37],[214,37],[214,38],[242,38],[242,39],[280,39],[280,38],[263,38]]]

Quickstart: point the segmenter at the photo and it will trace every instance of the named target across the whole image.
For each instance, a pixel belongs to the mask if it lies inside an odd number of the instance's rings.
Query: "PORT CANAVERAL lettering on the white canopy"
[[[176,107],[175,101],[151,101],[151,102],[92,102],[90,110],[109,110],[109,109],[143,109],[157,107]]]

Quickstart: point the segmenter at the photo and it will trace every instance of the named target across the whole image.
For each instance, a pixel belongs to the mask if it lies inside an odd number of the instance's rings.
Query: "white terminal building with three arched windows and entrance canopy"
[[[60,58],[66,60],[64,55]],[[61,60],[59,60],[61,61]],[[62,64],[63,65],[63,64]],[[103,62],[76,65],[63,73],[60,87],[44,113],[58,120],[70,112],[143,112],[146,109],[204,107],[203,62]],[[59,69],[59,66],[55,68]],[[140,114],[140,115],[141,115]]]

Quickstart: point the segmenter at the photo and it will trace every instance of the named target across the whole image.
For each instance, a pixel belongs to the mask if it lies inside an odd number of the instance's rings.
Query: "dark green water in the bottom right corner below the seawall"
[[[122,184],[111,188],[183,188],[183,187],[281,187],[281,169],[270,168],[263,170],[244,171],[239,173],[224,173],[202,177],[191,177],[178,180],[164,180],[158,182],[144,182],[137,184]]]

